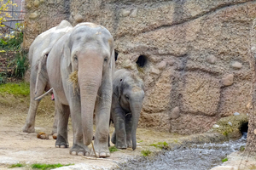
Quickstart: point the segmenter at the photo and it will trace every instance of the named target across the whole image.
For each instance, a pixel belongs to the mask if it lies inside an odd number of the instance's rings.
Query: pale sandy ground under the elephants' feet
[[[29,97],[15,97],[0,94],[0,169],[9,169],[12,164],[33,163],[45,164],[75,164],[83,165],[84,169],[110,169],[116,167],[116,162],[123,162],[131,156],[141,156],[142,150],[159,150],[150,146],[157,142],[168,142],[178,138],[178,135],[155,132],[152,129],[137,129],[137,150],[119,150],[107,159],[96,159],[93,156],[71,156],[69,149],[55,148],[55,139],[37,139],[37,133],[50,133],[54,118],[54,102],[50,96],[43,99],[36,116],[36,133],[22,133],[29,107]],[[72,126],[69,123],[68,140],[73,145]],[[113,127],[110,127],[113,132]],[[113,144],[112,144],[113,145]],[[83,164],[81,164],[83,163]],[[15,167],[13,169],[28,169]],[[64,169],[64,168],[63,168]],[[66,168],[67,169],[67,168]],[[83,169],[83,168],[79,168]]]

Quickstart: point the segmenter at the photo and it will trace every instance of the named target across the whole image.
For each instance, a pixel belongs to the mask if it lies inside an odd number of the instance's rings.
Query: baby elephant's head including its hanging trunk
[[[125,111],[125,115],[131,114],[131,141],[132,149],[135,150],[137,124],[143,106],[144,84],[139,77],[129,71],[119,70],[114,76],[113,94],[118,97],[119,105]]]

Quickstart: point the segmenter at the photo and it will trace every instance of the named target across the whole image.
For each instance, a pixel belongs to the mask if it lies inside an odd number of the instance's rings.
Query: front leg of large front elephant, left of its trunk
[[[74,97],[70,104],[71,119],[73,126],[73,146],[69,150],[71,155],[84,155],[89,156],[90,150],[84,145],[82,121],[81,121],[81,102],[78,98]]]

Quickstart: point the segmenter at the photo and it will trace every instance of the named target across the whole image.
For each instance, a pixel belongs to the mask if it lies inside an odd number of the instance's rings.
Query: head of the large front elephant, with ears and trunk
[[[106,28],[92,23],[75,26],[67,36],[61,65],[69,71],[70,76],[77,77],[73,84],[78,87],[81,102],[84,144],[89,145],[93,138],[93,112],[97,95],[106,100],[105,107],[109,111],[104,112],[108,115],[110,112],[114,70],[113,37]]]

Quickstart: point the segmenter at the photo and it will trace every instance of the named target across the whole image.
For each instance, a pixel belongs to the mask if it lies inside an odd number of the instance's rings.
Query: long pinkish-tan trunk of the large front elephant
[[[78,76],[84,144],[89,145],[93,138],[96,96],[102,83],[102,60],[96,57],[87,58],[84,62],[79,60]]]

